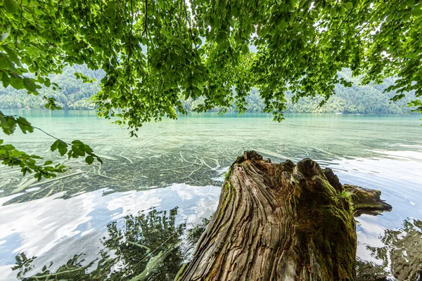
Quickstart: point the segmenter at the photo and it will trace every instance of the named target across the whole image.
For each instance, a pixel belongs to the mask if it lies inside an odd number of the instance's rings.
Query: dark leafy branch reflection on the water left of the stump
[[[117,221],[108,223],[104,248],[94,261],[86,261],[81,253],[63,265],[51,262],[40,270],[37,257],[22,252],[12,269],[18,280],[174,280],[208,223],[204,219],[186,230],[186,223],[177,225],[176,216],[177,207],[168,213],[153,209],[126,216],[122,227]]]

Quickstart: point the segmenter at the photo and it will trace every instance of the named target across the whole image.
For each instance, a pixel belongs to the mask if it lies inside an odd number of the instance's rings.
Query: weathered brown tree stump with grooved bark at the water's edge
[[[311,159],[273,164],[245,152],[177,280],[354,280],[350,193]]]

